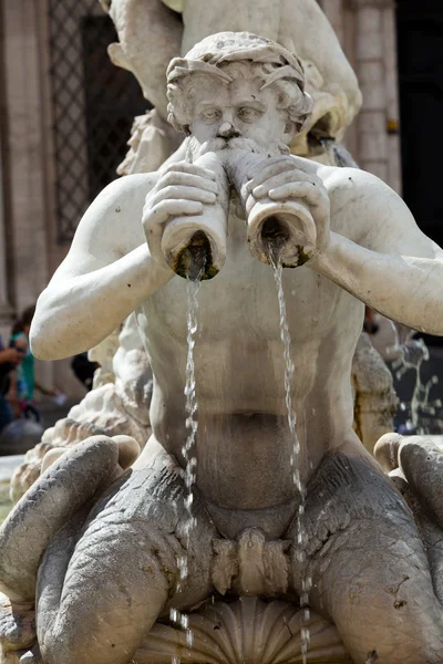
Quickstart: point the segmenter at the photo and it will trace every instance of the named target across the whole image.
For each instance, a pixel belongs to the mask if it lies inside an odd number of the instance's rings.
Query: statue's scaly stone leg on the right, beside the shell
[[[389,478],[370,460],[328,455],[308,486],[306,528],[310,604],[336,624],[354,664],[443,662],[443,606]]]

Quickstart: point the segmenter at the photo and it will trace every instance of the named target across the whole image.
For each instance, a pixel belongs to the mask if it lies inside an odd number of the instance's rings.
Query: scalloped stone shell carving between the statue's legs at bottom
[[[136,652],[134,663],[301,664],[301,629],[305,626],[300,609],[288,602],[240,598],[233,603],[205,604],[189,615],[194,634],[190,649],[183,630],[157,623]],[[309,664],[352,662],[337,630],[328,621],[311,614],[307,626]]]

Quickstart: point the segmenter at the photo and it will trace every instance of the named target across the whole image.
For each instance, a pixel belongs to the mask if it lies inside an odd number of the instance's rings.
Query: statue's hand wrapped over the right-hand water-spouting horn
[[[247,212],[257,200],[296,200],[312,215],[317,229],[317,250],[326,249],[330,237],[330,201],[323,181],[297,157],[281,156],[265,159],[251,174],[246,189],[249,193]]]

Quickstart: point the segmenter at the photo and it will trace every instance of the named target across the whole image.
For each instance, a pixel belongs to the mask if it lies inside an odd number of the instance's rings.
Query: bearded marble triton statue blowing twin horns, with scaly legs
[[[135,461],[128,436],[64,450],[12,510],[0,530],[3,660],[290,664],[306,661],[309,629],[312,662],[437,664],[443,457],[389,440],[396,488],[352,428],[350,376],[364,304],[443,334],[442,250],[377,177],[290,155],[312,102],[284,45],[205,38],[172,61],[167,94],[187,158],[96,198],[31,330],[35,356],[54,360],[135,311],[153,434]],[[202,280],[192,494],[189,274]],[[310,618],[298,610],[307,590]]]

